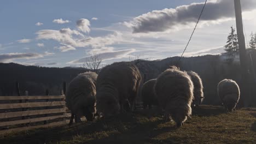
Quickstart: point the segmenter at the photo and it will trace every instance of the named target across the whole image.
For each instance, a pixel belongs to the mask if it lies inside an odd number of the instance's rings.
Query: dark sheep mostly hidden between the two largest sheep
[[[143,107],[146,109],[148,106],[149,109],[151,109],[152,105],[158,105],[158,98],[156,98],[156,95],[154,93],[154,85],[155,85],[156,79],[149,80],[144,83],[142,86],[142,101],[143,101]]]

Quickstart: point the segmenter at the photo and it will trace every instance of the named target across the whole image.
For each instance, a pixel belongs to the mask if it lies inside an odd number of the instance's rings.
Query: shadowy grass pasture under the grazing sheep
[[[0,143],[256,143],[256,109],[200,106],[181,128],[153,110],[0,136]]]

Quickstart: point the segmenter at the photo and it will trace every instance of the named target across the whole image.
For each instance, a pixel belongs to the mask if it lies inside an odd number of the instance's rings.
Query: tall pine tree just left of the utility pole
[[[231,27],[231,32],[229,33],[228,41],[226,41],[227,44],[225,45],[226,52],[233,53],[239,51],[237,34],[235,32],[236,29]]]

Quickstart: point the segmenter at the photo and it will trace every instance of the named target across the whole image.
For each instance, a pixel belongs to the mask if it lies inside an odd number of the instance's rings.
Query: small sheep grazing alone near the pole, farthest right
[[[218,95],[227,111],[235,110],[240,98],[240,89],[233,80],[224,79],[218,83]]]

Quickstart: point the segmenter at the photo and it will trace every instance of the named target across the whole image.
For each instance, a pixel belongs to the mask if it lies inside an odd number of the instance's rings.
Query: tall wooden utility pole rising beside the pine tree
[[[241,102],[243,106],[249,106],[249,85],[248,85],[248,61],[246,56],[246,46],[245,46],[245,35],[243,35],[243,21],[242,21],[242,10],[240,0],[234,0],[235,3],[235,14],[236,14],[236,30],[239,45],[240,54],[240,68],[242,74],[241,83]]]

